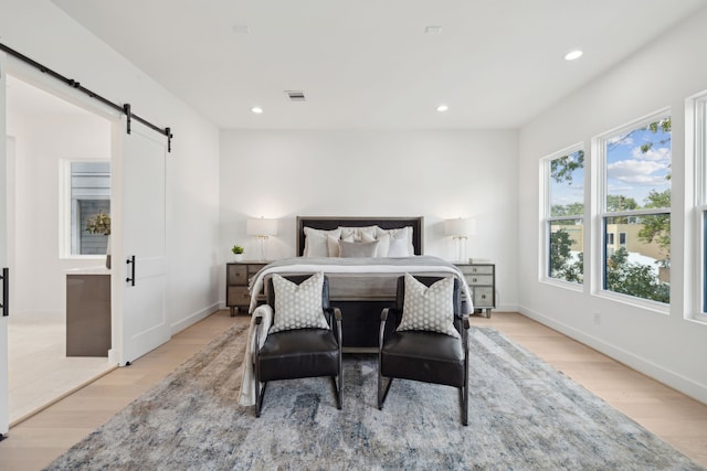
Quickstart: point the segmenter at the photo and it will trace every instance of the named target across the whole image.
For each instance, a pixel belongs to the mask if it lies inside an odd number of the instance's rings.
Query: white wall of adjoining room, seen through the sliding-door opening
[[[10,92],[11,93],[11,92]],[[8,116],[15,141],[13,232],[10,245],[12,321],[63,321],[65,271],[104,260],[61,259],[59,253],[60,161],[108,160],[110,125],[81,115]],[[41,293],[41,296],[38,296]]]

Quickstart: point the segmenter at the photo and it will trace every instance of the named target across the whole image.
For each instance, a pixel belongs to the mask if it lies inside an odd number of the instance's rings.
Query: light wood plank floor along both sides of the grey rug
[[[110,418],[234,322],[219,311],[170,342],[115,370],[10,429],[0,442],[1,470],[39,470]],[[472,323],[504,332],[648,430],[707,467],[707,405],[661,385],[517,313],[494,312]]]

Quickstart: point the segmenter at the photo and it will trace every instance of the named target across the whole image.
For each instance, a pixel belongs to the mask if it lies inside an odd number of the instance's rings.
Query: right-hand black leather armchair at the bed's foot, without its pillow
[[[440,277],[414,277],[425,286]],[[381,312],[378,350],[378,408],[390,390],[393,378],[404,378],[454,386],[460,389],[462,424],[468,424],[468,317],[461,314],[460,281],[454,280],[454,327],[460,338],[429,331],[398,332],[405,297],[404,277],[398,279],[395,308]],[[383,387],[384,379],[388,384]]]

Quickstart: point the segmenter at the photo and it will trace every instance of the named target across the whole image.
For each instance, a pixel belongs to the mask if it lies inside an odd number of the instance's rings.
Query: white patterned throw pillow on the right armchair
[[[405,299],[399,331],[423,330],[454,338],[454,278],[443,278],[431,287],[405,274]]]

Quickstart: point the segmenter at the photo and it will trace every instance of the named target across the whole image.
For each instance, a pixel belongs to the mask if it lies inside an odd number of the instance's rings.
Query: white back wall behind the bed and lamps
[[[258,216],[279,220],[267,255],[294,256],[298,215],[421,215],[425,254],[452,259],[443,221],[473,216],[467,254],[497,264],[500,308],[516,309],[516,131],[226,130],[221,156],[222,260],[235,243],[256,254]]]

